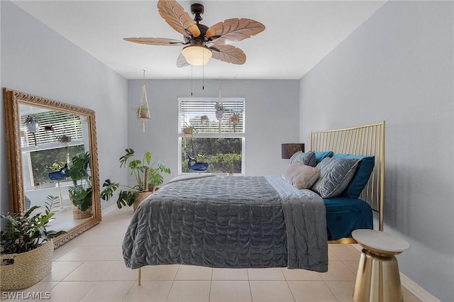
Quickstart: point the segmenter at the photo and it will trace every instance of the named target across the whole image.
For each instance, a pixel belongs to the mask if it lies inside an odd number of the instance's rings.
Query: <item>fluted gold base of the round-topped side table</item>
[[[403,302],[399,266],[394,255],[362,249],[353,289],[355,302]]]

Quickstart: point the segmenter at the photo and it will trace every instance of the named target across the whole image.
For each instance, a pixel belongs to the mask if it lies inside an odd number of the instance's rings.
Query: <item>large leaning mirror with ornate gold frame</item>
[[[98,224],[94,111],[8,88],[4,111],[10,211],[45,211],[46,198],[54,196],[50,230],[64,231],[53,240],[55,247]]]

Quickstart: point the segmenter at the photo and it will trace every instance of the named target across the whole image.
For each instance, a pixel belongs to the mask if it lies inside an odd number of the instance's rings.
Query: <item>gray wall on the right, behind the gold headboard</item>
[[[388,1],[301,79],[300,135],[386,121],[384,230],[399,267],[454,297],[452,1]]]

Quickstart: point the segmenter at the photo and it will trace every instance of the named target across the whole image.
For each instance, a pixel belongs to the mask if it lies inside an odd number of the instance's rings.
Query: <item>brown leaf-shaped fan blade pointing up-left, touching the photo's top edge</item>
[[[157,1],[157,9],[161,17],[164,18],[173,29],[177,30],[177,32],[182,35],[192,35],[194,38],[200,35],[199,27],[194,24],[192,18],[184,11],[177,1]]]

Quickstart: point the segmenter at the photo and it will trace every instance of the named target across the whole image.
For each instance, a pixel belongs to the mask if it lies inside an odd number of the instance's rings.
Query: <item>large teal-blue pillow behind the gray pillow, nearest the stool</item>
[[[351,154],[336,154],[333,157],[342,157],[342,158],[357,158],[360,161],[358,167],[356,168],[355,175],[353,179],[348,184],[345,191],[343,191],[342,196],[347,198],[358,198],[360,196],[362,189],[367,184],[370,174],[375,166],[375,157],[365,156],[365,155],[351,155]]]

